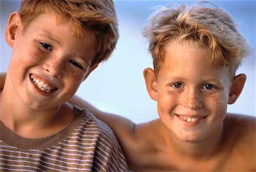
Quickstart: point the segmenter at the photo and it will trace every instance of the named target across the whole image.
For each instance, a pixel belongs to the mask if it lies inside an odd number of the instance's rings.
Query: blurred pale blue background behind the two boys
[[[135,123],[158,118],[156,102],[147,94],[143,70],[152,68],[148,42],[142,29],[154,7],[170,3],[191,5],[197,1],[122,1],[114,0],[119,23],[119,40],[112,57],[98,66],[81,84],[77,95],[100,110],[119,114]],[[240,98],[228,111],[255,116],[255,1],[210,1],[228,11],[238,30],[253,48],[237,74],[247,75]],[[0,0],[0,72],[6,72],[11,54],[4,32],[9,15],[18,10],[20,1]]]

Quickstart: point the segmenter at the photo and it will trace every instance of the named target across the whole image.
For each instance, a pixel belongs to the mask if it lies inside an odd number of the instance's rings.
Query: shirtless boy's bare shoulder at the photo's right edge
[[[228,139],[233,140],[229,157],[230,166],[256,170],[256,118],[228,114],[224,121],[224,130]]]

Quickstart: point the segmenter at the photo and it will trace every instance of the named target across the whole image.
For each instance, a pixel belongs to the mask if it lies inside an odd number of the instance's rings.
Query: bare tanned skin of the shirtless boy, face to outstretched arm
[[[135,124],[79,97],[70,102],[109,124],[134,171],[254,171],[255,118],[226,114],[246,75],[233,76],[227,67],[213,66],[207,49],[188,42],[170,42],[165,50],[158,75],[144,70],[159,119]]]

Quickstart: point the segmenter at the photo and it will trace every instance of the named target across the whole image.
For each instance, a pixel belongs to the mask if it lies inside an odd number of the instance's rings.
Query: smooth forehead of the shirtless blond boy
[[[219,67],[210,61],[206,48],[170,42],[165,47],[164,59],[160,63],[159,75],[179,75],[192,78],[220,77],[229,74],[227,67]]]

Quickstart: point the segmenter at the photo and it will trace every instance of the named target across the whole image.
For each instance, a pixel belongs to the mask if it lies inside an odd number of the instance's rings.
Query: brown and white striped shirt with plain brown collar
[[[0,171],[128,171],[113,131],[75,109],[63,130],[42,139],[20,137],[0,121]]]

